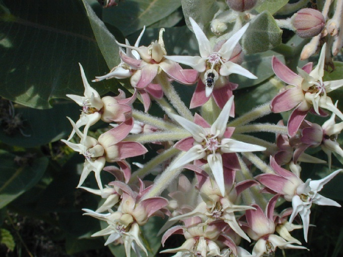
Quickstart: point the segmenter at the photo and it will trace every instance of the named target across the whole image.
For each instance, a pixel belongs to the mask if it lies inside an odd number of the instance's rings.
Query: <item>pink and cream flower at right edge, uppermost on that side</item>
[[[327,96],[327,93],[343,86],[343,79],[324,82],[322,80],[325,48],[326,44],[321,49],[317,66],[312,70],[312,63],[308,63],[302,69],[298,68],[299,75],[282,64],[275,56],[272,59],[275,75],[289,84],[289,87],[276,95],[270,106],[273,112],[282,112],[294,108],[287,124],[288,134],[291,137],[296,134],[310,109],[321,116],[326,115],[321,108],[327,109],[343,119],[343,113],[334,106],[331,98]]]

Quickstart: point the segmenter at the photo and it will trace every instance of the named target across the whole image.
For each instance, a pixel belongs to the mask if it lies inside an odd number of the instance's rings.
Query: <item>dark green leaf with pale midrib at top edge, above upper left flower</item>
[[[180,0],[123,1],[116,8],[104,9],[102,20],[116,26],[127,36],[141,30],[143,26],[161,21],[180,6]]]

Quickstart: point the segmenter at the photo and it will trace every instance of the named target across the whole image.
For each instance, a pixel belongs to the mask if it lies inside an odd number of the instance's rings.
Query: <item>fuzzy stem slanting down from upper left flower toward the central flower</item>
[[[157,81],[162,86],[162,90],[164,95],[168,98],[170,103],[175,107],[178,113],[188,119],[193,120],[193,115],[190,112],[189,108],[186,107],[184,102],[181,100],[179,94],[176,92],[175,88],[172,84],[168,81],[166,74],[159,74],[157,76]]]

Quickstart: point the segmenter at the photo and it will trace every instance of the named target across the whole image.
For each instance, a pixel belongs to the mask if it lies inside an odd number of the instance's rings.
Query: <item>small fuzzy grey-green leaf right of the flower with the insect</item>
[[[242,38],[245,53],[264,52],[281,44],[282,30],[268,12],[259,14]]]

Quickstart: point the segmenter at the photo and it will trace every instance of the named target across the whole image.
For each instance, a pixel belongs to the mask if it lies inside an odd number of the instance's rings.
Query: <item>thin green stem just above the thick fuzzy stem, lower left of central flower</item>
[[[129,184],[136,181],[137,177],[143,179],[145,176],[151,173],[151,171],[157,167],[159,164],[167,161],[168,159],[172,158],[174,155],[176,155],[180,150],[176,148],[170,148],[166,151],[164,151],[162,154],[156,156],[155,158],[151,159],[148,163],[144,165],[143,168],[137,170],[131,175]]]

